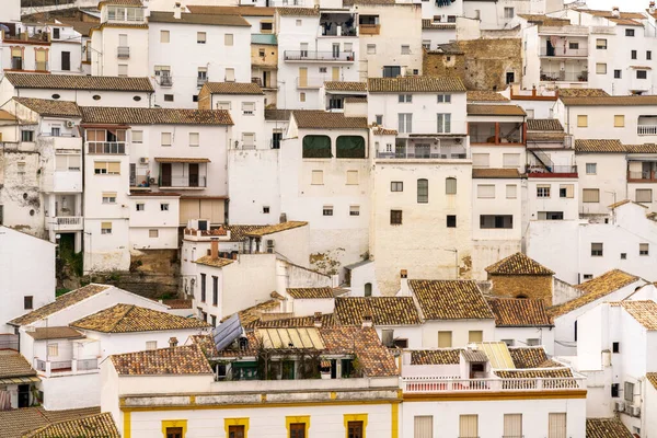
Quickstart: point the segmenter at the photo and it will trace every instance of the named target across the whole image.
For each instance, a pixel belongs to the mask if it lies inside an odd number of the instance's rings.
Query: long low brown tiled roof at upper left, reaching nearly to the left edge
[[[4,73],[4,78],[18,89],[153,92],[148,78],[43,73]]]

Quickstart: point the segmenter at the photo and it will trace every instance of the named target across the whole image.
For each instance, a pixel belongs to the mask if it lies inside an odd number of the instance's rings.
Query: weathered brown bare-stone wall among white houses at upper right
[[[454,44],[458,54],[426,51],[423,57],[425,76],[458,76],[468,90],[504,90],[506,73],[515,73],[515,82],[522,76],[520,38],[471,39]],[[449,59],[449,60],[448,60]]]

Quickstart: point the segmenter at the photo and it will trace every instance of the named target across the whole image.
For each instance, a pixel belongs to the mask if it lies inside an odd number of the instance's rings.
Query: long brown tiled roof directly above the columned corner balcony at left
[[[81,106],[85,124],[120,125],[232,125],[226,110],[134,108]]]

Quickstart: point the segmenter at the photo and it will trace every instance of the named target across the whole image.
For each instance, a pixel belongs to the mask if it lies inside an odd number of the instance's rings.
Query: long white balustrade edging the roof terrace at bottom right
[[[584,378],[538,379],[454,379],[440,377],[402,378],[407,393],[466,392],[466,391],[545,391],[584,389]]]

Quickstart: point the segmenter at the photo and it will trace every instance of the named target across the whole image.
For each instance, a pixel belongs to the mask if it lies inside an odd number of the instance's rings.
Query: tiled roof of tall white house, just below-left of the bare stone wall
[[[401,78],[369,78],[370,93],[436,93],[464,92],[465,85],[458,77],[412,76]]]

